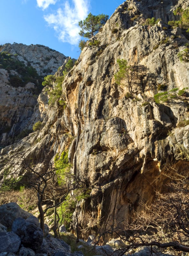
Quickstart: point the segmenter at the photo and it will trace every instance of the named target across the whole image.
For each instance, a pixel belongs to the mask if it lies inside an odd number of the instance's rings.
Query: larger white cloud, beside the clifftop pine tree
[[[39,0],[38,0],[39,1]],[[71,3],[70,3],[71,2]],[[78,44],[80,28],[78,22],[84,20],[89,13],[89,0],[66,1],[56,14],[48,14],[44,19],[58,32],[62,42]]]

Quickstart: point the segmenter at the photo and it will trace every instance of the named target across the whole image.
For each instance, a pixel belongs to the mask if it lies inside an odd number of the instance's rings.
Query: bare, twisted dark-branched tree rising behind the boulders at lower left
[[[32,159],[27,159],[19,153],[11,159],[6,159],[4,178],[1,181],[1,189],[24,186],[33,188],[37,196],[37,206],[40,213],[40,227],[44,232],[44,215],[48,209],[54,208],[55,236],[58,236],[57,228],[59,215],[57,208],[66,200],[68,194],[83,186],[83,182],[76,175],[72,175],[65,169],[64,181],[59,182],[58,172],[64,166],[55,166],[50,157],[46,157],[43,163],[34,164]],[[45,207],[44,207],[45,206]]]

